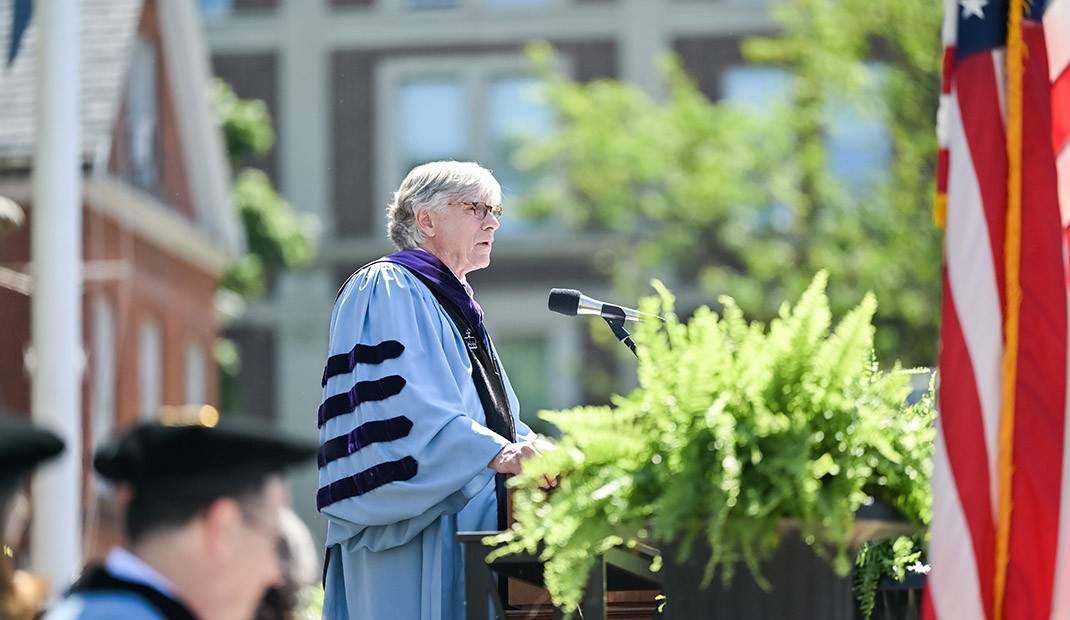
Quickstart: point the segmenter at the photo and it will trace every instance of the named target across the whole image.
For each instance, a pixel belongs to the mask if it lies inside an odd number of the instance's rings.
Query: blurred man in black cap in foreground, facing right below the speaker
[[[112,438],[93,467],[129,495],[126,546],[88,569],[46,620],[253,618],[282,581],[280,472],[315,451],[214,419],[142,423]]]

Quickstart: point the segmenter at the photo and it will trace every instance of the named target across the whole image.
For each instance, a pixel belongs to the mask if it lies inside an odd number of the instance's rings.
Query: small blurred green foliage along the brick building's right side
[[[239,99],[218,78],[213,79],[211,93],[227,156],[235,171],[232,196],[248,244],[248,254],[230,267],[220,284],[244,298],[255,298],[263,294],[270,271],[311,262],[316,256],[316,218],[295,212],[263,171],[238,170],[243,162],[268,153],[275,143],[264,103]]]

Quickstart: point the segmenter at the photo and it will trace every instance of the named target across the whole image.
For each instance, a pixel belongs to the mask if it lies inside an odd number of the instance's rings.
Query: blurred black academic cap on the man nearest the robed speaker
[[[205,424],[146,422],[103,444],[93,467],[104,478],[135,488],[166,489],[185,482],[280,471],[310,460],[317,447],[249,421]]]

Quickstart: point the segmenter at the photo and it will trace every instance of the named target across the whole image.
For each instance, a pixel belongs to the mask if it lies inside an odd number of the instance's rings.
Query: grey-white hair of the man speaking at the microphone
[[[485,196],[500,202],[502,186],[475,162],[430,162],[416,166],[401,181],[386,207],[386,233],[398,249],[413,249],[424,242],[416,226],[416,211],[442,211],[449,200]]]

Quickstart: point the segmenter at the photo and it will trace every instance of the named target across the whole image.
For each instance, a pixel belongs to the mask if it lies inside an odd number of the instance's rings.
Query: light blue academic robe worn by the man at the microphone
[[[456,533],[498,528],[494,471],[487,464],[508,441],[487,428],[461,334],[415,275],[380,262],[343,288],[330,335],[328,356],[386,341],[398,341],[404,349],[394,359],[356,364],[352,373],[328,378],[324,400],[357,381],[398,375],[406,382],[396,395],[326,420],[321,443],[398,415],[412,428],[406,437],[371,442],[321,465],[321,488],[406,457],[416,460],[417,471],[409,480],[322,506],[330,554],[323,617],[462,620],[463,563]],[[502,376],[518,440],[532,439],[518,418],[520,406],[504,369]]]

